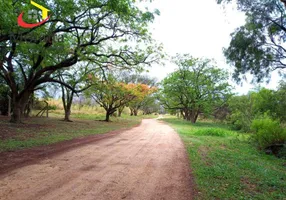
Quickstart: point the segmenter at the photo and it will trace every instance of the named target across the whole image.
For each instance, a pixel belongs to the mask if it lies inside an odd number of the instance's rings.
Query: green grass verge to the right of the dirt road
[[[196,199],[286,199],[286,161],[258,151],[248,135],[222,124],[163,120],[185,143]]]

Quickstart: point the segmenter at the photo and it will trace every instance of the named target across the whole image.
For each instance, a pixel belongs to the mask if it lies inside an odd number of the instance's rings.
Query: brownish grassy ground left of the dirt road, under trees
[[[0,118],[0,152],[43,146],[95,134],[103,134],[113,130],[130,128],[139,124],[143,116],[112,118],[112,122],[102,122],[102,114],[76,113],[71,119],[61,121],[60,112],[50,113],[50,118],[28,118],[24,124],[10,124],[7,117]],[[147,116],[155,117],[155,116]]]

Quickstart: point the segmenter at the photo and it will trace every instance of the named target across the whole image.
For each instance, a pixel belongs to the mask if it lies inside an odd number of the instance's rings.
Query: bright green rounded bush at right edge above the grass
[[[283,147],[286,141],[286,129],[280,126],[279,121],[267,116],[253,120],[251,131],[254,133],[251,138],[260,149]]]

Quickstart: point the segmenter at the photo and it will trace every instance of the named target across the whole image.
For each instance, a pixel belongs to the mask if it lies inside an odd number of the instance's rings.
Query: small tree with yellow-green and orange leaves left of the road
[[[110,121],[110,116],[122,106],[127,105],[136,98],[133,85],[116,82],[114,76],[109,74],[106,79],[94,78],[94,86],[86,91],[96,103],[106,111],[105,121]]]

